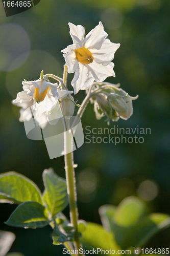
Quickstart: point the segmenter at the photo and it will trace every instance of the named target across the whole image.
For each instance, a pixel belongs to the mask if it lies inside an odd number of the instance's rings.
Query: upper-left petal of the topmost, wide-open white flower
[[[77,42],[82,42],[84,39],[84,35],[85,35],[84,27],[81,25],[76,26],[72,23],[68,23],[68,25],[69,25],[69,29],[70,29],[69,33],[70,33],[70,36],[71,36],[74,44],[77,44]]]

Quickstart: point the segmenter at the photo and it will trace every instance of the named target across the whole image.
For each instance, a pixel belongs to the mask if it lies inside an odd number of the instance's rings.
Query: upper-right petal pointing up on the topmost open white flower
[[[103,24],[100,22],[98,26],[86,35],[83,46],[87,49],[100,49],[107,36],[108,34],[104,31]]]

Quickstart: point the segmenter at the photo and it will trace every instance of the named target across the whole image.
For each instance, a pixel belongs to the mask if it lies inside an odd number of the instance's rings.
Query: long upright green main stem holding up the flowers
[[[67,66],[64,65],[64,74],[63,82],[66,86],[67,79]],[[69,121],[69,120],[68,120]],[[66,124],[66,123],[65,123]],[[73,148],[73,139],[71,131],[64,133],[64,161],[65,161],[65,173],[66,173],[66,182],[67,182],[67,193],[69,198],[69,208],[70,208],[70,222],[75,228],[74,234],[74,244],[75,249],[78,250],[81,248],[79,240],[79,231],[78,231],[78,208],[77,208],[77,191],[76,191],[76,179],[75,179],[75,169],[74,169],[74,155],[72,152]],[[66,154],[67,152],[70,152]]]

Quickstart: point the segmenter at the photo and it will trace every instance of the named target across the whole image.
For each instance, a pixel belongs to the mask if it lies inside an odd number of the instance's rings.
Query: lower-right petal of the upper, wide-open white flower
[[[88,66],[96,82],[102,82],[108,76],[115,76],[115,73],[113,71],[113,62],[110,62],[109,65],[104,66],[93,60],[93,62],[90,63]]]

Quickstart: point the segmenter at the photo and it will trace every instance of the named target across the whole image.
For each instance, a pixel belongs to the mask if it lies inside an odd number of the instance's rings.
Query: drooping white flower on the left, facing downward
[[[32,118],[29,108],[33,106],[34,118],[41,127],[44,127],[47,121],[55,124],[55,120],[62,117],[58,99],[73,92],[58,90],[57,83],[51,83],[47,78],[42,78],[23,81],[23,91],[17,94],[12,103],[21,107],[19,121],[29,121]]]

